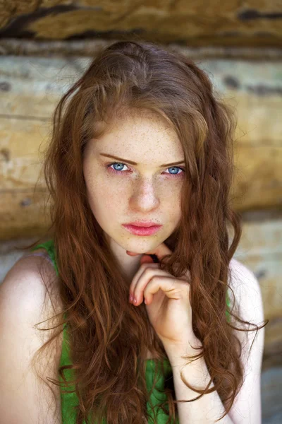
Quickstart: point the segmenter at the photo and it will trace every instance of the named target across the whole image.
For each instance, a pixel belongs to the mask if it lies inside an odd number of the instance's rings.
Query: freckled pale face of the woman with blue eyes
[[[183,160],[176,133],[149,111],[128,114],[100,139],[87,143],[83,159],[87,197],[111,246],[141,254],[171,235],[180,220]],[[170,163],[178,164],[161,167]],[[153,220],[162,227],[154,235],[133,235],[122,224],[134,220]]]

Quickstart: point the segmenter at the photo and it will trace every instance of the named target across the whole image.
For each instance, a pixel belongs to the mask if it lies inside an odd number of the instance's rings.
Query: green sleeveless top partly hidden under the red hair
[[[49,257],[51,258],[51,261],[54,265],[54,268],[56,270],[57,276],[59,276],[58,267],[56,264],[56,252],[54,249],[54,240],[49,240],[48,242],[44,242],[40,245],[36,245],[33,247],[32,252],[36,249],[44,248],[47,250]],[[228,304],[229,298],[226,296],[226,302]],[[64,315],[66,318],[66,315]],[[226,310],[226,317],[228,319],[228,311]],[[66,328],[66,324],[63,326],[63,343],[62,343],[62,351],[61,351],[61,360],[60,360],[60,367],[62,365],[71,365],[71,360],[69,357],[69,345],[68,345],[68,332]],[[152,389],[152,385],[154,382],[154,374],[156,371],[154,360],[148,359],[146,361],[146,372],[145,372],[145,379],[148,390]],[[157,382],[154,390],[152,391],[152,394],[150,396],[150,401],[152,402],[154,412],[157,416],[157,423],[158,424],[166,424],[168,420],[168,415],[162,411],[161,408],[159,408],[158,404],[161,404],[162,402],[167,400],[167,396],[164,393],[164,382],[166,377],[171,372],[171,364],[169,363],[168,359],[164,360],[164,375],[161,375],[161,372],[157,375]],[[64,370],[64,375],[68,381],[68,379],[73,379],[73,370]],[[63,379],[61,376],[59,376],[59,381],[64,384]],[[74,385],[70,385],[68,388],[68,391],[74,390]],[[161,393],[160,393],[161,391]],[[61,417],[62,417],[62,424],[75,424],[75,411],[74,406],[78,405],[78,397],[75,394],[75,391],[73,393],[62,393],[61,392]],[[152,424],[154,420],[152,419],[154,417],[154,413],[152,411],[152,408],[147,402],[147,413],[148,413],[148,423]],[[151,420],[152,419],[152,420]],[[83,423],[85,424],[85,422]],[[103,420],[103,424],[106,424]],[[176,416],[176,424],[179,424],[178,416]]]

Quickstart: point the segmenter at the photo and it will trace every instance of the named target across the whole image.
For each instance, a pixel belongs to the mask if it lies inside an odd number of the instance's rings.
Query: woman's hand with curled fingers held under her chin
[[[126,251],[130,256],[133,252]],[[154,330],[161,342],[171,346],[181,345],[197,338],[192,331],[192,308],[189,300],[190,272],[185,273],[183,279],[175,278],[159,268],[149,254],[157,255],[158,259],[171,250],[161,243],[150,250],[140,260],[140,269],[130,284],[130,295],[133,305],[138,306],[145,299],[147,314]],[[134,302],[134,298],[136,302]]]

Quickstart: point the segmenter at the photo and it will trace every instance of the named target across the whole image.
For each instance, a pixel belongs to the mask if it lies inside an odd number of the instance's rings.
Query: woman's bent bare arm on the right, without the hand
[[[257,325],[262,324],[264,320],[264,312],[262,305],[262,294],[259,288],[257,278],[254,273],[247,269],[246,266],[233,259],[231,261],[232,278],[229,284],[233,289],[235,299],[240,305],[241,317],[249,322]],[[238,277],[238,278],[237,278]],[[239,324],[233,322],[235,326]],[[252,326],[250,326],[252,328]],[[245,371],[245,380],[243,386],[236,396],[234,404],[229,411],[228,416],[225,416],[219,423],[224,424],[261,424],[261,396],[260,396],[260,374],[262,367],[262,353],[264,349],[264,328],[257,333],[253,342],[252,350],[250,346],[255,337],[256,331],[245,333],[243,331],[234,330],[236,336],[240,339],[243,345],[243,365]],[[247,343],[246,343],[247,334]],[[200,342],[199,342],[200,343]],[[192,346],[201,346],[200,344],[191,342]],[[188,343],[185,346],[189,346]],[[201,389],[207,386],[210,375],[207,370],[204,358],[195,360],[194,363],[185,365],[185,360],[182,355],[195,355],[199,353],[197,350],[190,348],[190,351],[185,351],[184,348],[167,347],[166,353],[171,362],[173,369],[173,382],[176,392],[176,400],[189,400],[200,396],[195,391],[191,391],[182,382],[180,371],[183,370],[183,376],[189,384]],[[247,355],[249,355],[247,357]],[[214,387],[211,384],[210,387]],[[210,394],[204,394],[201,399],[190,403],[178,404],[178,416],[180,424],[196,424],[196,423],[214,423],[223,414],[223,404],[217,391]]]

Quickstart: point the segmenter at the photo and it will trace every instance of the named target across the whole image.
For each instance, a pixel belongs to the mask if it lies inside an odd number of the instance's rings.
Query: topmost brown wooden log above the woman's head
[[[18,1],[0,5],[2,37],[63,40],[137,36],[190,46],[281,46],[281,5],[275,0]]]

